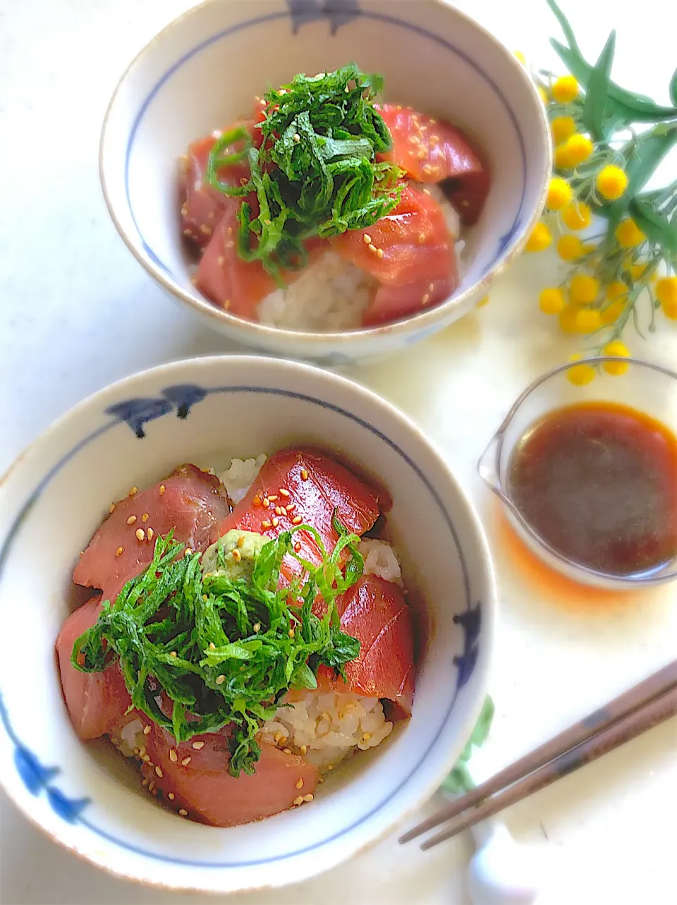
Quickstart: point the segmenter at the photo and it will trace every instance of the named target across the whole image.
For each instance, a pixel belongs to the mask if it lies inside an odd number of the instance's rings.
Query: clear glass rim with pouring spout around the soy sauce
[[[647,361],[644,358],[636,358],[632,356],[591,355],[587,357],[576,358],[575,360],[565,362],[562,365],[551,367],[544,374],[541,374],[536,377],[535,380],[532,380],[529,386],[526,386],[512,403],[512,405],[510,405],[508,413],[501,421],[500,426],[491,437],[491,440],[487,444],[484,452],[482,452],[482,455],[477,462],[477,472],[482,478],[482,481],[484,481],[484,483],[489,487],[491,492],[494,493],[499,498],[499,500],[501,500],[503,505],[508,510],[510,516],[515,519],[517,525],[524,533],[526,538],[529,538],[529,548],[537,552],[539,557],[544,561],[547,562],[548,559],[554,560],[554,564],[557,565],[558,568],[565,570],[567,574],[570,573],[574,576],[577,576],[577,579],[579,581],[585,582],[586,584],[605,586],[608,588],[617,588],[619,590],[625,591],[642,587],[664,585],[667,584],[667,582],[672,581],[674,578],[677,578],[677,557],[672,560],[672,564],[669,565],[669,571],[667,572],[659,571],[657,573],[648,574],[640,573],[639,575],[609,575],[608,572],[601,572],[599,571],[599,569],[586,566],[583,563],[579,563],[575,559],[571,559],[565,554],[560,553],[558,549],[552,547],[545,538],[542,538],[539,535],[539,532],[535,528],[533,528],[529,520],[524,517],[520,509],[518,509],[518,507],[514,504],[513,500],[510,498],[510,491],[508,487],[506,487],[504,481],[502,481],[501,479],[501,459],[503,455],[505,434],[510,427],[510,422],[512,421],[513,417],[519,411],[522,403],[529,398],[529,395],[531,395],[534,390],[538,389],[539,386],[547,383],[548,380],[550,380],[552,377],[558,376],[558,374],[564,374],[574,367],[578,367],[580,365],[588,365],[590,367],[596,367],[598,369],[600,366],[604,366],[607,363],[625,364],[629,367],[634,366],[646,368],[658,374],[662,374],[663,376],[672,377],[675,381],[677,381],[677,372],[673,371],[671,368],[656,364],[653,361]],[[576,403],[567,405],[576,405]],[[549,411],[556,411],[560,407],[565,406],[553,405]],[[667,430],[670,431],[670,428],[668,427]],[[670,433],[672,433],[672,431],[670,431]],[[493,469],[493,471],[491,471],[491,477],[486,473],[485,469]]]

